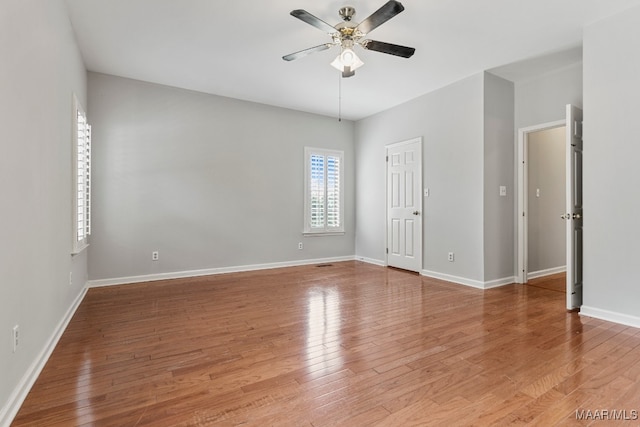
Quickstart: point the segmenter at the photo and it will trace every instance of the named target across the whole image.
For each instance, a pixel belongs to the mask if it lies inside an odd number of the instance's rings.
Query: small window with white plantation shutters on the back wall
[[[304,157],[304,233],[344,233],[344,153],[305,147]]]

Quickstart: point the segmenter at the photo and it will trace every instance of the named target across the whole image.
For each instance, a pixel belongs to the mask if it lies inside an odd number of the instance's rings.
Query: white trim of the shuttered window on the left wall
[[[71,133],[71,254],[77,255],[89,246],[89,236],[91,235],[91,125],[87,121],[87,114],[85,113],[80,101],[76,95],[73,95],[73,119],[72,119],[72,133]],[[80,127],[80,120],[84,121],[84,132]],[[81,133],[82,140],[81,140]],[[83,183],[79,180],[79,145],[82,144],[85,159],[83,162],[83,170],[85,171],[85,182],[82,190],[82,212],[79,211],[79,185]],[[79,216],[82,215],[82,220],[79,220]],[[82,224],[84,232],[82,233],[82,239],[79,239],[79,225]]]

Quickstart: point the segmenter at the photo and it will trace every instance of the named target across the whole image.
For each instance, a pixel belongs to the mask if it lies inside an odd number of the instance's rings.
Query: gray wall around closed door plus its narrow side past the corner
[[[385,261],[384,146],[423,137],[423,272],[514,276],[513,84],[480,73],[356,123],[356,254]],[[499,196],[500,185],[508,196]],[[455,253],[455,261],[447,253]]]

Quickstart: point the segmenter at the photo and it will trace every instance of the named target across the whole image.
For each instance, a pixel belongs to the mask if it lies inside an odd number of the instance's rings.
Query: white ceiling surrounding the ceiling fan
[[[88,70],[357,120],[483,70],[517,81],[581,60],[585,25],[640,0],[403,0],[405,11],[367,38],[416,48],[410,59],[359,49],[341,79],[337,48],[289,15],[334,25],[349,4],[361,21],[386,0],[66,0]]]

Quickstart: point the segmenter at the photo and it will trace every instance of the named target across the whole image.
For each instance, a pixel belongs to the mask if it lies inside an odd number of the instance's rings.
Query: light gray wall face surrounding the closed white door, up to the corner
[[[480,73],[356,123],[357,256],[385,261],[385,145],[422,136],[423,269],[484,280],[483,81]]]

